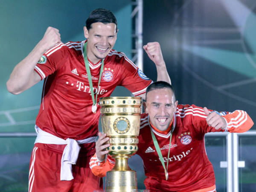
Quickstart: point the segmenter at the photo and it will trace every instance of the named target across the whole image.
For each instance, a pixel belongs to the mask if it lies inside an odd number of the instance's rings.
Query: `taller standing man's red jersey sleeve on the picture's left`
[[[61,61],[65,57],[64,46],[66,45],[59,43],[41,56],[34,68],[35,72],[41,77],[41,80],[54,73],[60,67]]]

